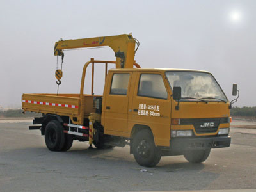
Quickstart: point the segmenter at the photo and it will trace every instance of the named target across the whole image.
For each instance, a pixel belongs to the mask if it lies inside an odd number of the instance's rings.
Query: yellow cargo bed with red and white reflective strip
[[[83,125],[84,118],[95,112],[94,95],[79,94],[23,94],[22,109],[36,113],[69,116],[74,124]]]

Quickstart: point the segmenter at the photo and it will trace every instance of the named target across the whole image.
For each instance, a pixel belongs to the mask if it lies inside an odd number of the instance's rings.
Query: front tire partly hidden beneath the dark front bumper
[[[202,163],[209,157],[210,152],[211,148],[205,150],[188,150],[184,153],[184,157],[190,163]]]

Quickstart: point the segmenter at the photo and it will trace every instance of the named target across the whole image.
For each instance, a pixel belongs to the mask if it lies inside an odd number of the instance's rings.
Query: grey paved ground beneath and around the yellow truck
[[[50,152],[25,120],[0,120],[0,191],[256,189],[256,129],[231,130],[231,147],[212,150],[205,163],[162,157],[141,172],[128,147],[88,150],[75,142],[68,152]]]

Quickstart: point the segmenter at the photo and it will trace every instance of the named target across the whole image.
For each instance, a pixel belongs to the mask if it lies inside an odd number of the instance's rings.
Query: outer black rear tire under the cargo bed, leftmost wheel
[[[61,151],[65,144],[63,126],[60,122],[52,120],[45,127],[45,144],[51,151]]]

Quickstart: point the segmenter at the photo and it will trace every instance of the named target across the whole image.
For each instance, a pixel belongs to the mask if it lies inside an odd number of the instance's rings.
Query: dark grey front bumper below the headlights
[[[170,150],[198,150],[206,148],[230,147],[230,136],[218,136],[209,138],[172,138],[170,140]]]

